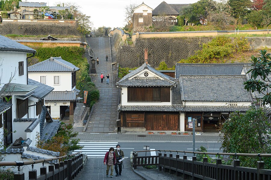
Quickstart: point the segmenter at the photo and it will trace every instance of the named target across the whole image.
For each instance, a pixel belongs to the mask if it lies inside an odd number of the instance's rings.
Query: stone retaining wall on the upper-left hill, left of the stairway
[[[17,35],[80,35],[77,23],[5,22],[0,24],[0,34]]]

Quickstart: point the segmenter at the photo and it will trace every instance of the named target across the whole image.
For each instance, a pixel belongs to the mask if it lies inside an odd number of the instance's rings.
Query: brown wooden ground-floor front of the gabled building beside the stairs
[[[147,131],[178,131],[178,112],[121,112],[121,127],[144,127]]]

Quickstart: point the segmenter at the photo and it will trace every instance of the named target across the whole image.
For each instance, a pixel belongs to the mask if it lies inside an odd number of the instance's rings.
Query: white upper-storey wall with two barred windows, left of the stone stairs
[[[53,91],[71,91],[72,73],[71,72],[28,72],[28,78],[40,82],[40,76],[46,76],[46,85],[54,87]],[[54,76],[59,76],[59,84],[54,85]]]

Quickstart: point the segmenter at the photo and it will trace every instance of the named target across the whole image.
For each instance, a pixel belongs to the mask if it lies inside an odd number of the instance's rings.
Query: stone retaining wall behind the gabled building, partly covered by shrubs
[[[144,63],[144,49],[148,48],[148,63],[157,68],[164,61],[173,67],[181,59],[194,55],[201,50],[201,44],[211,41],[212,37],[204,38],[137,38],[132,46],[119,45],[117,63],[121,67],[139,67]],[[271,48],[271,37],[248,37],[251,50],[261,47]]]

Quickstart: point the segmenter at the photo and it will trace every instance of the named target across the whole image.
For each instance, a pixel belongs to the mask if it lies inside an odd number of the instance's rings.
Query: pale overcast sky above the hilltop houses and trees
[[[189,4],[198,0],[166,0],[168,4]],[[23,0],[24,2],[24,0]],[[130,4],[140,5],[142,0],[28,0],[27,2],[46,2],[47,6],[54,6],[57,2],[75,2],[81,6],[81,11],[91,16],[93,27],[108,26],[111,28],[125,25],[124,8]],[[156,8],[163,0],[144,0],[144,3]]]

